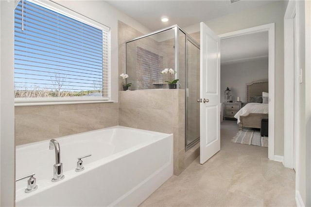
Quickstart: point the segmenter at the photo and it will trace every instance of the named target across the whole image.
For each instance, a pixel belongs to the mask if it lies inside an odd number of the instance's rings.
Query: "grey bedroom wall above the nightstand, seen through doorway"
[[[241,101],[246,103],[245,84],[254,80],[268,80],[268,72],[268,57],[242,63],[221,64],[221,92],[224,92],[229,87],[233,102],[236,102],[239,96]],[[221,102],[224,101],[225,95],[222,93]]]

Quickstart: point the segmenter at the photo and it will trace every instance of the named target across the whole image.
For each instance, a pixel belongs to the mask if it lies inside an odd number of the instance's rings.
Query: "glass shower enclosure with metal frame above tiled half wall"
[[[167,89],[165,80],[179,79],[185,91],[185,150],[200,141],[200,45],[178,25],[125,42],[126,73],[131,90]],[[177,72],[161,74],[165,68]]]

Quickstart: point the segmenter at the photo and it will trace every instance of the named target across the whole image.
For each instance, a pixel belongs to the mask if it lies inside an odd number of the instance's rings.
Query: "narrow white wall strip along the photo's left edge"
[[[0,206],[14,205],[14,1],[0,1]]]

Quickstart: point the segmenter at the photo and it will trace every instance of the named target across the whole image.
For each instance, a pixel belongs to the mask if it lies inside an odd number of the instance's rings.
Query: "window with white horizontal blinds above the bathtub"
[[[109,99],[109,32],[21,0],[15,9],[15,97]]]

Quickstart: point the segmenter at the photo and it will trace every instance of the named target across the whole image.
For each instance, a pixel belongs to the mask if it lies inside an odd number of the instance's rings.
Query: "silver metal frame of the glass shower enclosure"
[[[187,47],[187,40],[190,41],[190,43],[192,43],[196,48],[200,49],[200,44],[197,43],[187,32],[185,32],[183,29],[181,29],[177,24],[172,25],[170,27],[166,27],[164,29],[161,30],[157,30],[155,32],[150,32],[141,36],[138,36],[134,39],[125,41],[125,53],[127,51],[127,43],[148,37],[148,36],[152,36],[154,34],[160,33],[160,32],[165,32],[168,30],[172,30],[174,29],[174,46],[175,46],[175,50],[174,50],[174,56],[175,56],[175,60],[174,60],[174,66],[175,68],[179,68],[179,34],[178,31],[181,31],[185,34],[185,57],[188,54],[188,47]],[[188,65],[188,59],[185,58],[185,99],[187,97],[187,80],[188,80],[188,74],[187,74],[187,69],[186,68]],[[127,73],[127,54],[125,55],[125,71]],[[175,74],[175,79],[178,79],[179,77],[179,73]],[[200,83],[200,81],[198,81],[198,84]],[[193,147],[196,143],[200,142],[200,137],[196,138],[194,141],[192,141],[191,143],[187,144],[187,126],[188,126],[188,118],[187,118],[187,114],[188,114],[188,102],[187,100],[185,100],[185,151],[189,150],[191,147]]]

